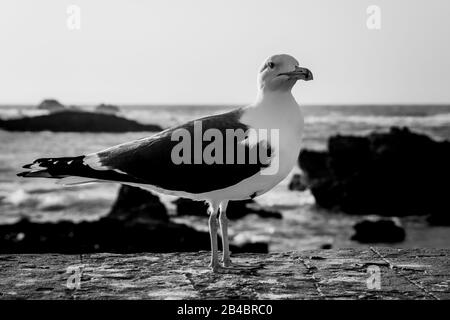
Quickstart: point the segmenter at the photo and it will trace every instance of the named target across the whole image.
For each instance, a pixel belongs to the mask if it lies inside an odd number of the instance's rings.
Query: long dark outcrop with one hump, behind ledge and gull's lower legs
[[[219,242],[220,246],[220,242]],[[0,253],[174,252],[209,250],[207,232],[171,222],[159,198],[122,186],[111,212],[97,221],[0,225]],[[232,252],[268,252],[266,243],[231,245]]]

